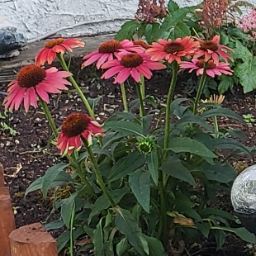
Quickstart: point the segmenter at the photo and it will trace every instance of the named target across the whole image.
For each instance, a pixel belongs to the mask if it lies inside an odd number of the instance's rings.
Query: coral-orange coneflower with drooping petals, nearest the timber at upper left
[[[81,40],[75,38],[69,38],[64,40],[63,38],[57,38],[45,43],[45,48],[41,49],[36,55],[36,65],[43,65],[45,62],[52,64],[57,54],[64,54],[65,51],[72,52],[73,48],[83,47],[84,43]]]

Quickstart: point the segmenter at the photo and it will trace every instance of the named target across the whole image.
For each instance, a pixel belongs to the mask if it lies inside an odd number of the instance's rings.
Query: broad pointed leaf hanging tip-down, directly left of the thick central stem
[[[140,206],[149,213],[150,175],[148,172],[137,170],[129,176],[129,186]]]

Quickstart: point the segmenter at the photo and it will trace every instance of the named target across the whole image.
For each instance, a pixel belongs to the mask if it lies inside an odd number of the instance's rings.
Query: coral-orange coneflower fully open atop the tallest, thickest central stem
[[[186,36],[183,39],[177,38],[174,41],[171,39],[159,39],[159,42],[152,43],[146,52],[152,55],[152,60],[166,59],[168,63],[172,63],[174,60],[180,63],[182,57],[188,58],[192,56],[198,47],[199,43],[197,41]]]

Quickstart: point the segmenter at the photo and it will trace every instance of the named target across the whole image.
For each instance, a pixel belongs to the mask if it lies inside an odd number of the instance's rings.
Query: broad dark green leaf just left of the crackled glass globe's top
[[[206,178],[219,183],[230,183],[237,176],[235,169],[229,164],[220,164],[218,161],[214,165],[202,164],[201,170],[205,173]]]

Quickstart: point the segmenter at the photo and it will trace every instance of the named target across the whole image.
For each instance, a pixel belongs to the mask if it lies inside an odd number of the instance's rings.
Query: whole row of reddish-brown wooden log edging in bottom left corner
[[[9,187],[0,163],[0,256],[58,256],[56,240],[40,223],[16,229]]]

